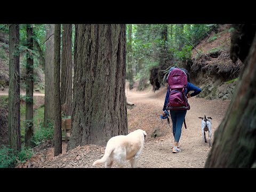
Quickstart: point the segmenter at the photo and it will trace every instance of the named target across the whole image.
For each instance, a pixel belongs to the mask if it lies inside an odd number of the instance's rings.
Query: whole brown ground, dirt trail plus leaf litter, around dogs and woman
[[[162,114],[165,93],[166,87],[161,87],[155,93],[149,89],[139,92],[135,89],[126,91],[127,101],[134,103],[132,108],[127,108],[129,132],[136,129],[147,132],[138,167],[203,168],[211,148],[209,143],[202,141],[201,119],[198,117],[204,114],[212,117],[213,142],[214,132],[225,116],[230,101],[190,98],[191,109],[186,115],[187,129],[182,127],[180,138],[181,152],[173,154],[172,125],[167,124],[167,119],[159,118]],[[209,140],[208,133],[206,136]],[[94,167],[92,163],[101,158],[105,151],[105,147],[102,146],[86,145],[66,152],[66,146],[67,143],[63,142],[62,154],[56,157],[53,157],[54,148],[45,148],[17,167]],[[115,163],[113,167],[116,167]],[[126,161],[125,167],[131,167],[129,161]]]

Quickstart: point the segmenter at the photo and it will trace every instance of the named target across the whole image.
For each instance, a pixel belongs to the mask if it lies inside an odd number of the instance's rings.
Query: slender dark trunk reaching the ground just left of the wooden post
[[[61,108],[60,108],[60,24],[54,30],[54,156],[62,153]]]

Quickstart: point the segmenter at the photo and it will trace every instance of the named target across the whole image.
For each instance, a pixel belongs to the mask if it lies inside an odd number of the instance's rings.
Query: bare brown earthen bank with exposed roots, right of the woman
[[[193,49],[192,62],[187,63],[187,68],[191,81],[202,89],[198,97],[223,100],[233,97],[244,65],[240,60],[233,63],[229,58],[229,29],[228,24],[220,25],[218,33],[212,31]]]

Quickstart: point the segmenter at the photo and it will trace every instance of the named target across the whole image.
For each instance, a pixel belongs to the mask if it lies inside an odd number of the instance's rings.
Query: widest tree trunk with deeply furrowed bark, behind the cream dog
[[[125,25],[77,25],[68,150],[126,135]]]

